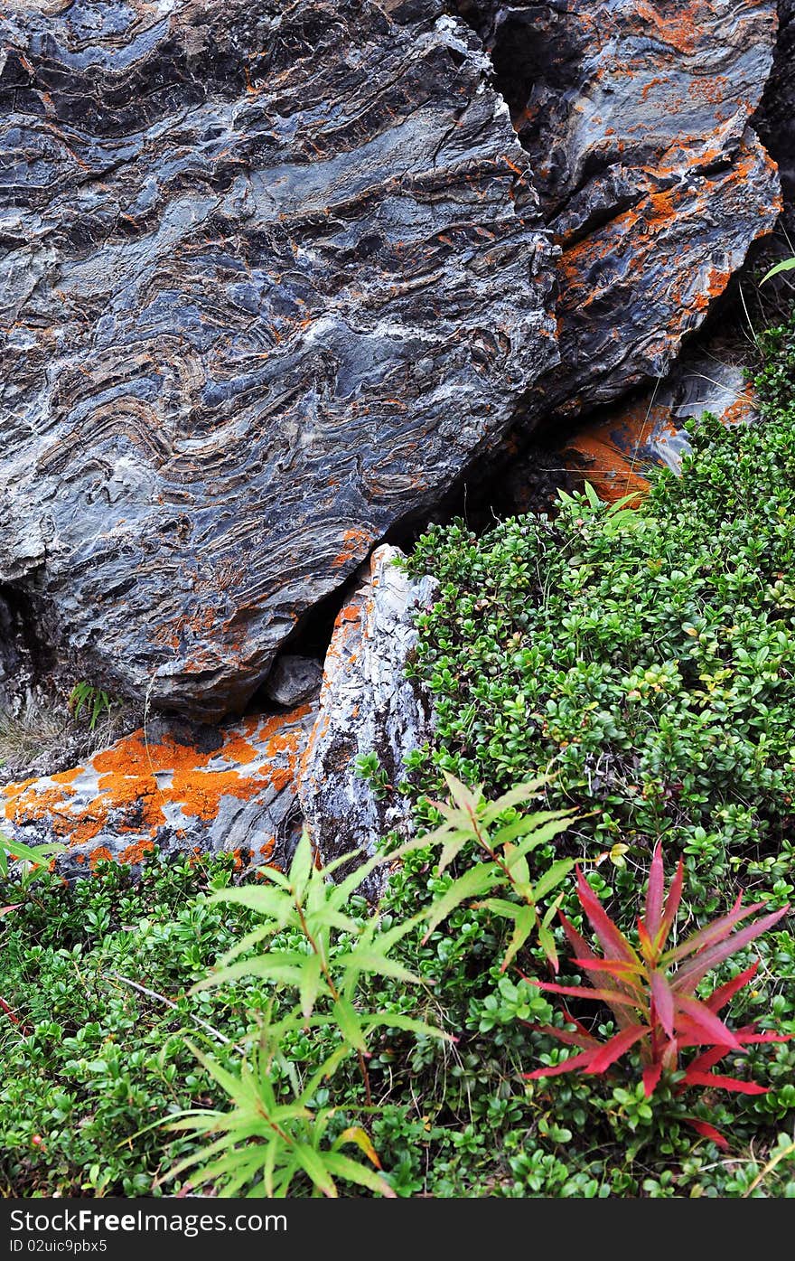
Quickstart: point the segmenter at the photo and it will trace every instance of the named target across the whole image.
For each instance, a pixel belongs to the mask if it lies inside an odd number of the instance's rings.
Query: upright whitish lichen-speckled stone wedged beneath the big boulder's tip
[[[403,760],[432,733],[431,697],[404,671],[417,642],[415,615],[433,603],[438,584],[408,579],[394,565],[399,555],[375,550],[368,580],[336,619],[325,662],[299,797],[326,863],[408,831],[408,798],[398,792]],[[375,779],[357,773],[362,754],[375,754]]]

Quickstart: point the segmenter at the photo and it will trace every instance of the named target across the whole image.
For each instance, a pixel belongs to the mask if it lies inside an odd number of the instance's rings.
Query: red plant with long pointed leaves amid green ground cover
[[[718,986],[709,997],[695,997],[695,989],[713,967],[772,928],[786,914],[789,905],[735,931],[737,924],[765,905],[764,902],[756,902],[743,908],[738,898],[727,915],[693,933],[680,946],[666,950],[682,898],[683,880],[684,864],[680,861],[668,897],[663,900],[663,854],[658,845],[651,860],[645,914],[638,921],[639,950],[636,951],[607,915],[582,871],[577,869],[580,903],[602,947],[603,957],[595,955],[562,912],[558,914],[575,951],[575,963],[588,975],[595,973],[598,984],[591,987],[544,981],[533,984],[552,994],[606,1002],[615,1016],[619,1033],[601,1042],[566,1011],[567,1020],[575,1025],[575,1033],[552,1025],[537,1028],[557,1038],[558,1042],[580,1047],[581,1053],[552,1068],[538,1068],[534,1073],[525,1073],[525,1078],[554,1077],[577,1071],[603,1073],[631,1047],[638,1045],[644,1066],[644,1090],[646,1096],[650,1096],[664,1069],[674,1071],[680,1067],[682,1050],[702,1047],[706,1049],[684,1069],[678,1091],[687,1086],[702,1086],[738,1091],[743,1095],[766,1093],[766,1087],[756,1082],[743,1082],[736,1077],[723,1077],[711,1072],[729,1052],[742,1052],[751,1043],[787,1042],[791,1037],[756,1033],[755,1025],[746,1025],[733,1033],[718,1016],[729,999],[751,981],[758,961],[732,981]],[[727,1146],[723,1136],[713,1126],[693,1117],[688,1120],[699,1134]]]

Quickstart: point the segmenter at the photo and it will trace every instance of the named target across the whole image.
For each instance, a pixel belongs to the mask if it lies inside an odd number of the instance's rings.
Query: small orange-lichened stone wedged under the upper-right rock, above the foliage
[[[683,456],[692,453],[688,425],[706,411],[724,425],[757,419],[741,368],[712,356],[688,357],[649,393],[578,429],[561,455],[568,469],[591,482],[609,503],[632,492],[644,494],[653,468],[682,472]]]

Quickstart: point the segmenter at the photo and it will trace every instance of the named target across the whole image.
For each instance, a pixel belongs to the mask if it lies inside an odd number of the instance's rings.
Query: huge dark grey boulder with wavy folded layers
[[[13,0],[0,581],[214,720],[557,361],[551,246],[437,0]]]

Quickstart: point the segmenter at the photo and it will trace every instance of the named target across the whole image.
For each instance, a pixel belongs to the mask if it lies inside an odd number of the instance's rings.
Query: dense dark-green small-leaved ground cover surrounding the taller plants
[[[527,889],[544,888],[554,870],[564,879],[553,895],[587,931],[573,875],[556,866],[577,860],[635,941],[658,842],[669,870],[684,860],[680,937],[737,895],[770,913],[792,900],[795,328],[769,333],[762,351],[762,422],[704,420],[683,477],[658,474],[636,509],[564,497],[554,518],[506,521],[480,538],[462,522],[435,528],[409,561],[441,583],[412,667],[436,697],[436,741],[412,757],[401,786],[418,821],[443,822],[443,772],[483,786],[489,799],[551,774],[539,808],[576,816],[528,850],[524,893],[505,893],[517,915]],[[374,791],[394,791],[374,763],[360,770]],[[515,810],[498,822],[518,823]],[[329,1139],[367,1131],[398,1195],[795,1195],[795,1043],[727,1057],[727,1073],[770,1088],[758,1096],[688,1093],[673,1073],[648,1098],[634,1049],[598,1077],[527,1081],[569,1054],[539,1028],[564,1029],[559,1005],[522,975],[549,979],[542,918],[527,917],[513,955],[517,917],[484,895],[485,873],[461,895],[483,846],[464,840],[440,870],[437,845],[426,841],[396,865],[380,905],[378,931],[396,931],[398,970],[357,984],[355,1010],[383,1016],[368,1042],[367,1086],[353,1053],[312,1082],[339,1028],[292,1021],[267,1063],[273,1106],[310,1083],[304,1103],[328,1117]],[[137,889],[120,873],[68,892],[47,879],[4,917],[3,997],[20,1021],[0,1016],[6,1189],[150,1194],[155,1177],[197,1151],[198,1131],[175,1139],[156,1122],[192,1106],[226,1108],[241,1066],[265,1045],[263,1025],[294,1011],[299,984],[297,973],[236,975],[185,996],[261,922],[255,907],[207,899],[210,883],[229,880],[223,863],[152,868]],[[345,931],[324,947],[330,975],[369,909],[354,895],[344,914]],[[784,917],[704,977],[702,997],[761,958],[726,1013],[732,1028],[795,1033],[791,923]],[[558,980],[576,984],[559,928],[554,942]],[[300,922],[285,919],[268,928],[268,951],[304,967],[299,956],[311,944]],[[417,980],[407,984],[401,967]],[[606,1006],[593,1016],[593,1004],[578,1001],[569,1008],[596,1038],[615,1034]],[[195,1016],[237,1045],[219,1044]],[[418,1034],[412,1021],[456,1040]],[[226,1087],[186,1038],[229,1071]],[[731,1151],[708,1131],[695,1135],[688,1117],[723,1131]],[[291,1194],[311,1193],[311,1177],[301,1179]]]

